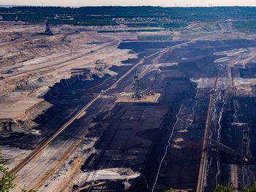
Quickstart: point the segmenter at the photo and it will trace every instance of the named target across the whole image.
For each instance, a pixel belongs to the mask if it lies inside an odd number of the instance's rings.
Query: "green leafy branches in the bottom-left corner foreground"
[[[16,176],[15,174],[10,174],[8,168],[4,166],[4,161],[0,157],[0,191],[9,192],[16,187],[13,183]],[[20,189],[21,192],[36,192],[34,189],[27,190],[25,186]]]

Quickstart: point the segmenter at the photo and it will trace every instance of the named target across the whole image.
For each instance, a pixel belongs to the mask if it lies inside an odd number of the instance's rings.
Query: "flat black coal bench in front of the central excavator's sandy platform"
[[[189,99],[191,96],[195,96],[195,84],[187,81],[186,79],[183,81],[190,87],[189,90],[184,90],[184,93],[178,93],[176,96],[170,97],[169,99],[163,99],[160,104],[118,104],[118,106],[116,106],[111,112],[112,118],[105,120],[107,122],[101,122],[104,125],[106,123],[109,125],[107,129],[102,129],[100,124],[92,128],[92,130],[94,130],[92,132],[94,133],[89,133],[88,137],[95,134],[98,135],[99,133],[97,132],[101,130],[105,130],[105,133],[102,134],[100,137],[101,139],[99,139],[95,145],[95,148],[99,150],[99,152],[92,153],[81,167],[83,172],[92,172],[97,169],[110,169],[115,167],[130,167],[132,171],[141,173],[140,177],[129,180],[129,183],[131,184],[129,189],[124,188],[124,180],[103,180],[106,182],[104,187],[94,187],[92,188],[93,191],[116,191],[117,188],[122,191],[150,191],[150,188],[154,183],[159,161],[161,160],[160,158],[164,153],[163,149],[165,148],[168,135],[170,135],[173,124],[176,122],[176,114],[181,107],[181,101],[183,99]],[[173,80],[173,82],[177,82],[177,80]],[[171,86],[169,86],[169,88],[173,89]],[[121,136],[121,130],[127,130],[128,135],[132,135],[133,132],[132,127],[126,125],[128,123],[126,123],[125,120],[127,112],[136,110],[144,110],[145,112],[148,107],[152,112],[157,112],[161,107],[167,108],[167,112],[165,113],[160,126],[158,128],[154,128],[154,126],[148,125],[147,127],[144,126],[144,128],[139,128],[136,126],[137,120],[130,120],[129,124],[132,125],[135,123],[134,131],[136,134],[135,137],[132,137],[134,140],[130,138],[127,144],[121,142],[122,139],[127,140],[126,137]],[[151,117],[153,119],[156,118],[154,115]],[[118,119],[120,118],[124,120],[122,120],[120,126],[116,126],[116,123],[119,122]],[[138,142],[142,146],[136,145]],[[119,143],[119,146],[117,146],[117,143]],[[124,152],[121,153],[118,152],[118,150]],[[138,150],[138,152],[133,153],[133,150]],[[129,154],[131,156],[129,156]],[[109,155],[111,155],[112,158]],[[122,155],[124,155],[124,157],[121,157]],[[115,160],[115,158],[120,159]],[[133,160],[130,161],[129,158],[132,158]],[[97,182],[100,181],[102,180],[97,180]],[[89,185],[89,183],[84,183],[84,185]]]

